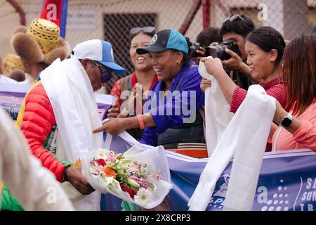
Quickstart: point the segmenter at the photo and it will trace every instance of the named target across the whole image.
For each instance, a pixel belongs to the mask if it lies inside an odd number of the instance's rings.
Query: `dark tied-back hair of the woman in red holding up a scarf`
[[[246,41],[250,41],[265,52],[270,52],[272,49],[277,50],[277,60],[275,66],[277,67],[281,62],[284,48],[286,46],[282,35],[272,27],[260,27],[251,32]]]

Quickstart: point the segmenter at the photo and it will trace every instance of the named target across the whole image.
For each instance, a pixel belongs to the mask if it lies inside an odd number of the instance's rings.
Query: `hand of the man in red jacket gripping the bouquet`
[[[68,167],[66,171],[67,181],[82,195],[88,195],[95,191],[81,173],[81,167]]]

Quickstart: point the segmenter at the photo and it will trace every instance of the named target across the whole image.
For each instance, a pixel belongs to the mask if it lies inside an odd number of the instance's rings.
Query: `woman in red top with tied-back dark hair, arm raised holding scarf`
[[[283,80],[279,77],[279,64],[284,48],[285,42],[282,35],[272,27],[260,27],[246,37],[246,62],[249,65],[251,77],[262,80],[260,85],[268,95],[275,97],[283,108],[287,105],[287,92],[284,90]],[[204,62],[207,72],[216,78],[230,104],[230,112],[236,113],[246,97],[246,89],[232,82],[219,58],[202,58],[201,61]],[[211,86],[211,82],[208,81],[208,84],[202,82],[201,88],[202,85],[206,88]],[[271,146],[267,148],[267,150],[270,149]]]

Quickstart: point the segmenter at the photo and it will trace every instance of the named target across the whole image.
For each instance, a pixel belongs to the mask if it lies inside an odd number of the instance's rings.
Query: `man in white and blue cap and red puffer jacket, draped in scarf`
[[[63,182],[77,210],[99,210],[100,193],[81,174],[80,158],[101,148],[102,134],[93,91],[124,68],[114,62],[112,46],[93,39],[74,47],[71,58],[55,60],[25,96],[21,130],[32,153]]]

